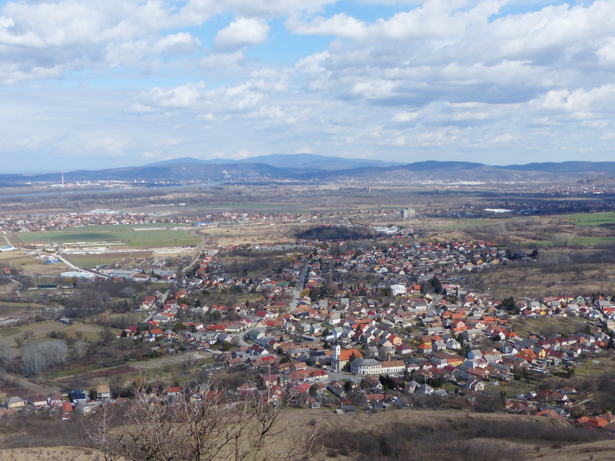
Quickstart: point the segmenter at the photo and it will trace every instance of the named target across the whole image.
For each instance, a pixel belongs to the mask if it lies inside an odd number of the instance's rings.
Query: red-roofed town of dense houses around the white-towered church
[[[615,433],[613,414],[589,410],[600,408],[590,390],[554,380],[611,359],[615,305],[608,296],[496,299],[462,286],[464,273],[532,264],[537,250],[511,255],[482,241],[359,243],[298,239],[204,251],[175,288],[143,297],[133,312],[146,320],[114,341],[148,344],[152,357],[197,353],[232,392],[288,389],[299,407],[347,414],[478,406]],[[267,276],[226,272],[224,255],[274,251],[289,256]],[[203,302],[217,294],[247,300]],[[526,332],[534,318],[554,325],[571,319],[578,329]],[[509,392],[517,388],[527,392]],[[46,409],[68,419],[122,402],[108,384],[64,392],[9,396],[2,414]],[[157,398],[177,400],[183,392],[170,386]]]

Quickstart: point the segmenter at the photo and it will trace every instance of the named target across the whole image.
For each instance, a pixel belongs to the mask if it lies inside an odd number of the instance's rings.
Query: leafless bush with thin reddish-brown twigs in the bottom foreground
[[[197,381],[179,400],[164,400],[140,380],[121,430],[111,430],[105,411],[89,435],[105,461],[306,459],[317,451],[319,431],[306,424],[288,433],[283,417],[289,401],[282,388],[229,396]]]

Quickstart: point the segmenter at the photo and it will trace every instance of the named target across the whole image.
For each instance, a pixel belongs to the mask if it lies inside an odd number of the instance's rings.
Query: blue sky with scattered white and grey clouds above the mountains
[[[0,0],[2,173],[615,160],[615,0]]]

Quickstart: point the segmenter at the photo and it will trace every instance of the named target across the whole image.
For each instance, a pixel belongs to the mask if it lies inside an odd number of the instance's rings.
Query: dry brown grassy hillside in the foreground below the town
[[[410,441],[415,446],[427,442],[435,447],[440,439],[440,446],[459,447],[461,451],[477,447],[480,453],[467,459],[482,459],[482,448],[489,447],[491,459],[523,459],[542,461],[584,461],[615,459],[615,439],[597,439],[597,433],[584,429],[572,428],[568,422],[546,417],[515,416],[509,414],[474,413],[448,410],[389,410],[376,414],[357,412],[357,414],[337,415],[330,410],[291,409],[284,416],[282,425],[287,425],[287,434],[298,430],[311,430],[312,423],[322,428],[322,451],[315,460],[354,460],[368,459],[365,452],[354,451],[357,440],[378,441],[379,436],[389,434],[393,440],[396,431],[415,430],[415,438]],[[499,429],[498,429],[499,428]],[[507,428],[507,433],[499,433]],[[575,435],[575,431],[581,431]],[[473,436],[458,438],[459,435]],[[534,435],[529,435],[531,431]],[[423,436],[425,439],[423,440]],[[570,439],[566,438],[570,436]],[[331,448],[335,443],[346,444],[346,449]],[[285,437],[278,443],[288,443]],[[400,437],[400,441],[402,438]],[[381,446],[374,443],[373,446]],[[435,448],[437,451],[438,448]],[[514,453],[513,457],[505,455]],[[498,455],[498,453],[500,455]],[[22,447],[1,451],[2,461],[89,461],[94,453],[90,449],[77,447]],[[461,454],[461,453],[460,453]],[[409,454],[408,454],[409,455]],[[423,453],[429,459],[437,459],[431,454]],[[436,452],[433,455],[437,456]],[[439,459],[449,458],[442,452]],[[361,458],[363,456],[363,458]],[[381,455],[381,460],[395,459]],[[400,458],[397,458],[400,459]],[[405,458],[404,458],[405,459]]]

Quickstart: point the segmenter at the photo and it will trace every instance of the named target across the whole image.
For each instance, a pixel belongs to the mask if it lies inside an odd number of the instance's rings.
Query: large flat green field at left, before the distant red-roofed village
[[[200,243],[201,239],[191,235],[189,230],[132,230],[176,226],[177,224],[166,224],[165,226],[162,224],[105,224],[51,230],[49,232],[28,232],[17,234],[16,237],[23,243],[124,242],[126,246],[137,248],[143,246],[198,245]],[[121,246],[118,247],[121,248]]]

